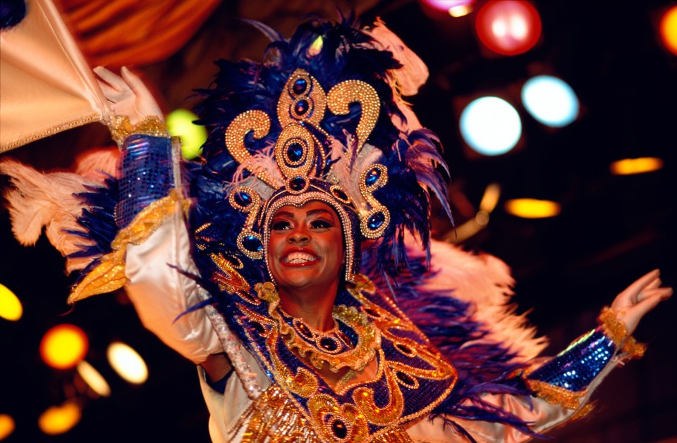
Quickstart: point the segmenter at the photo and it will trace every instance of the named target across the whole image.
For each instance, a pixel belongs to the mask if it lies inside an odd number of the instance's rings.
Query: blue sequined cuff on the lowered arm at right
[[[615,352],[616,346],[609,337],[599,330],[592,330],[528,378],[579,392],[602,372]]]

